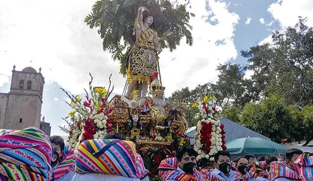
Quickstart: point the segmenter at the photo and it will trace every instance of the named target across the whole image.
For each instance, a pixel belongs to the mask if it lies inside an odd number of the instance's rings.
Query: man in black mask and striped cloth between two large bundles
[[[51,159],[51,181],[71,181],[74,176],[74,150],[65,146],[60,136],[49,137],[54,154]]]

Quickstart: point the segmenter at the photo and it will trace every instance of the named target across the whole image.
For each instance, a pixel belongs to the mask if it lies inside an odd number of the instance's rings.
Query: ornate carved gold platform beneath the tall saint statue
[[[157,87],[158,91],[163,91],[163,87]],[[170,145],[172,142],[167,139],[171,136],[170,130],[174,133],[183,134],[186,131],[186,122],[183,116],[182,108],[176,107],[175,120],[172,124],[165,122],[168,117],[169,111],[172,110],[171,103],[166,102],[164,109],[159,110],[152,106],[153,99],[147,100],[150,106],[149,112],[142,112],[142,108],[138,107],[137,110],[131,110],[128,108],[128,104],[121,99],[121,96],[115,95],[109,102],[109,108],[112,112],[108,117],[112,120],[112,129],[114,132],[121,133],[126,139],[132,139],[136,137],[136,148],[159,148],[162,145]],[[136,112],[139,116],[139,127],[134,128],[131,122],[130,116]],[[168,130],[168,133],[164,130]]]

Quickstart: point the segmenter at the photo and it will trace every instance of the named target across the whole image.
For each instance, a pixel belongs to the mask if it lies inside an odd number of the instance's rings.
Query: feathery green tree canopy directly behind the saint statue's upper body
[[[170,0],[98,0],[85,18],[87,25],[97,29],[103,39],[103,50],[112,53],[113,60],[119,60],[120,73],[126,74],[126,57],[134,45],[134,20],[137,9],[145,6],[155,17],[155,30],[159,37],[160,49],[176,49],[185,37],[192,45],[193,37],[189,24],[194,14],[187,11],[189,1],[180,4]]]

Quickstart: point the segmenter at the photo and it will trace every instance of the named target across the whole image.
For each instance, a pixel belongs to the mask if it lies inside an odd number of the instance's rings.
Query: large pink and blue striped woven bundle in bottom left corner
[[[1,181],[48,181],[51,157],[51,143],[40,129],[0,129]]]

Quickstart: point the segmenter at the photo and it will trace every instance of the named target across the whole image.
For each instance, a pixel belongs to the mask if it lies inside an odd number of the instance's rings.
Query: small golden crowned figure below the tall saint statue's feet
[[[156,86],[155,94],[153,98],[149,100],[149,107],[151,113],[151,129],[150,136],[154,138],[154,140],[163,141],[164,139],[160,136],[159,131],[167,128],[165,126],[165,118],[167,115],[165,114],[164,107],[166,105],[166,101],[164,100],[164,90],[165,87]]]

